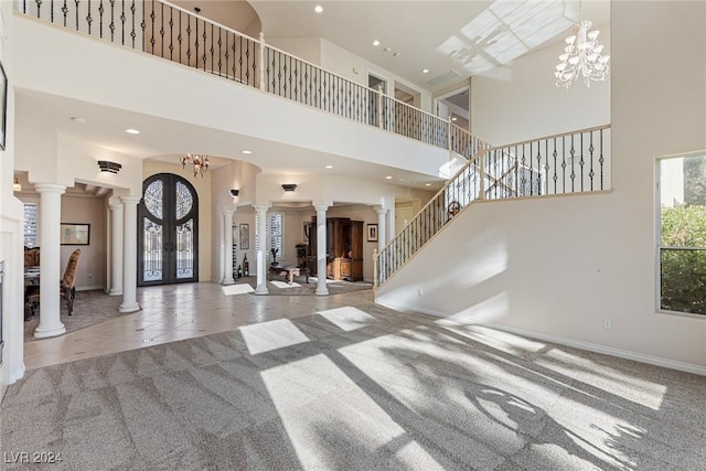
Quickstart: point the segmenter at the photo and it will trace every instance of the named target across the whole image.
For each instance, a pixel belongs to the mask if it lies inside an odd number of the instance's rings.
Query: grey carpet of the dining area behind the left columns
[[[74,301],[74,313],[72,315],[68,315],[64,299],[61,300],[61,321],[66,328],[66,333],[86,329],[121,315],[121,312],[118,312],[121,301],[121,296],[108,296],[99,289],[77,291],[76,299]],[[42,340],[33,336],[34,330],[39,324],[39,313],[24,322],[25,342]]]

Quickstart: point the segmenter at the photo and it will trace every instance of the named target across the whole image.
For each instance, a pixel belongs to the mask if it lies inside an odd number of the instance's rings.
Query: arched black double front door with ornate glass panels
[[[142,183],[138,286],[199,280],[199,196],[189,181],[159,173]]]

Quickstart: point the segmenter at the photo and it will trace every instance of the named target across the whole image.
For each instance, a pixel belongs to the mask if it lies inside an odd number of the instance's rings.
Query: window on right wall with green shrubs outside
[[[706,156],[657,163],[660,309],[706,314]]]

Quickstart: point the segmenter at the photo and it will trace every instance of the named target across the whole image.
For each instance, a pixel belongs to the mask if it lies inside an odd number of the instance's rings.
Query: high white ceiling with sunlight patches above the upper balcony
[[[254,0],[252,4],[266,40],[320,36],[431,90],[561,41],[579,18],[578,0]],[[323,8],[321,13],[314,12],[317,4]],[[610,21],[608,0],[584,0],[580,9],[595,25]],[[373,45],[375,40],[379,45]]]

